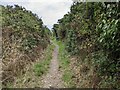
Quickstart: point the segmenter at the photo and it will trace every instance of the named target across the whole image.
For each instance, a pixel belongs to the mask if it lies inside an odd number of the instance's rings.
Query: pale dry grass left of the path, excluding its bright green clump
[[[24,74],[18,75],[15,77],[14,83],[11,83],[11,85],[7,87],[12,87],[12,88],[35,88],[35,87],[42,87],[42,76],[36,75],[36,72],[34,70],[36,69],[36,65],[42,64],[42,68],[48,67],[49,64],[46,63],[47,65],[44,65],[43,62],[50,61],[52,57],[52,51],[53,51],[54,46],[49,45],[47,49],[44,50],[42,53],[41,57],[37,59],[35,62],[32,62],[30,64],[27,64],[26,67],[24,67]],[[47,68],[48,69],[48,68]],[[47,69],[45,69],[43,75],[46,74]]]

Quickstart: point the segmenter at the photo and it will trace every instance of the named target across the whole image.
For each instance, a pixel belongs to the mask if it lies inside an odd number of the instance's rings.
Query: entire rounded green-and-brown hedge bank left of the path
[[[24,7],[2,8],[2,63],[4,85],[24,73],[24,66],[36,61],[49,44],[49,29],[36,14]]]

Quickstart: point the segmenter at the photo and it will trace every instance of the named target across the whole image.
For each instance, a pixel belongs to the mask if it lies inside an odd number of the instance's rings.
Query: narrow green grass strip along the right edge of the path
[[[73,73],[70,68],[69,55],[67,54],[65,45],[62,42],[58,41],[57,44],[59,45],[59,69],[63,71],[62,80],[64,81],[65,87],[74,87],[72,82]]]

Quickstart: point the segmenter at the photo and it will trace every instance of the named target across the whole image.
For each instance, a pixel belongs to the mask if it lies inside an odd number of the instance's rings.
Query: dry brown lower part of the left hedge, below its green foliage
[[[38,45],[34,48],[34,53],[20,51],[21,38],[14,40],[11,37],[13,30],[6,27],[2,30],[2,85],[6,86],[15,80],[15,77],[25,73],[25,67],[38,58],[41,58],[43,48]]]

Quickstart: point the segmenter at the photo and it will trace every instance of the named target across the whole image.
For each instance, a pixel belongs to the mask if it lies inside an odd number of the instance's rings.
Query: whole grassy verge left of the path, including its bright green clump
[[[54,45],[50,44],[43,53],[43,58],[26,67],[25,74],[16,77],[14,83],[8,83],[5,88],[27,88],[41,86],[41,76],[46,74],[52,59]],[[38,80],[38,81],[37,81]]]

